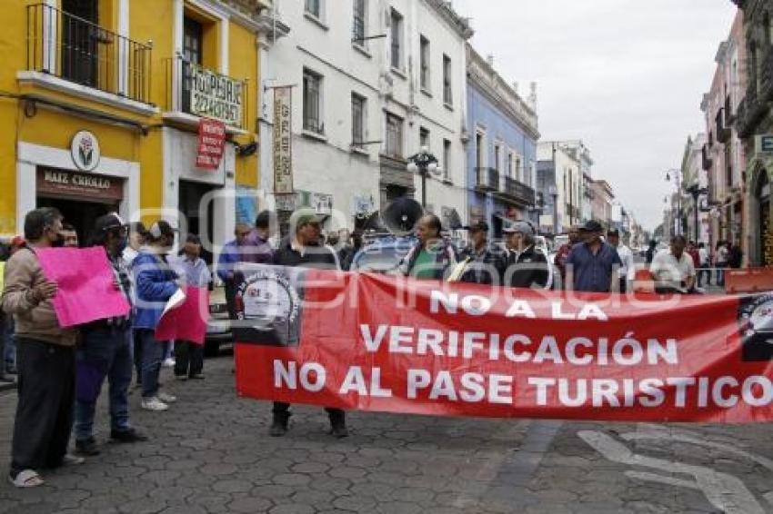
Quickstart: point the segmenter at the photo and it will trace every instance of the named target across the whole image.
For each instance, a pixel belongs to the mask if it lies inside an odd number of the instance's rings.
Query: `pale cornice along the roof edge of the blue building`
[[[537,114],[470,44],[467,44],[467,79],[515,124],[539,139]]]

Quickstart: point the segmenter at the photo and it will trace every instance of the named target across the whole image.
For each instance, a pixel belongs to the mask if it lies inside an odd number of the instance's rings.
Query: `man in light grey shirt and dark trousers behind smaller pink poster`
[[[172,267],[187,285],[198,288],[208,288],[212,282],[212,273],[201,258],[201,240],[195,234],[188,234],[186,245],[180,251],[179,257],[172,262]],[[175,341],[175,378],[204,379],[204,345],[194,341]]]

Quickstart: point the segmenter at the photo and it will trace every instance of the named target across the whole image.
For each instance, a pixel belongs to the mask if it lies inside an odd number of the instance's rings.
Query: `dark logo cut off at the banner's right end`
[[[743,298],[738,306],[743,360],[773,361],[773,294]]]

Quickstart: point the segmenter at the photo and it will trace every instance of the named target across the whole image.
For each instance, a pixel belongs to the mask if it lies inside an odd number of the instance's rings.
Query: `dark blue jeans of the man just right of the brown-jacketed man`
[[[130,329],[104,328],[83,332],[75,355],[75,440],[94,435],[96,399],[105,377],[110,387],[110,428],[129,430],[129,385],[132,382]]]

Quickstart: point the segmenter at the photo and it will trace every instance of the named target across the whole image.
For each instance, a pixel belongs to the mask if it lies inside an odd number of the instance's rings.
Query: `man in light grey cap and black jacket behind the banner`
[[[547,289],[550,267],[547,257],[534,244],[535,231],[529,222],[513,222],[504,231],[510,256],[505,280],[510,287]]]

